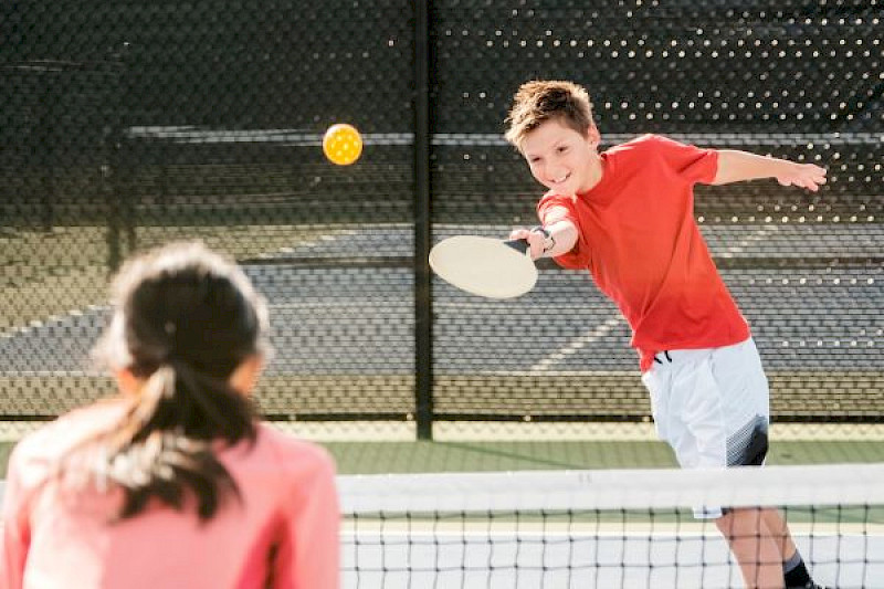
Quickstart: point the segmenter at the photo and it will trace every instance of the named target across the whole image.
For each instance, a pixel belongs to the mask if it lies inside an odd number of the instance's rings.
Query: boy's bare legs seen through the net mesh
[[[767,509],[729,509],[715,520],[739,564],[747,589],[783,589],[780,541],[768,529]]]

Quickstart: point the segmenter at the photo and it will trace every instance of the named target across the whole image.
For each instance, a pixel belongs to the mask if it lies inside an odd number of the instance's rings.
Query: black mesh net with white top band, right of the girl
[[[341,476],[347,588],[737,588],[708,506],[777,507],[825,587],[884,588],[884,464]]]

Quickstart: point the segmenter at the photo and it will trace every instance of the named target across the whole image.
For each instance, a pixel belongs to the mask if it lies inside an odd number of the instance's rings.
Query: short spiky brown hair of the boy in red
[[[560,119],[585,134],[592,124],[592,103],[586,88],[556,80],[526,82],[513,97],[506,140],[518,148],[528,133],[550,119]]]

